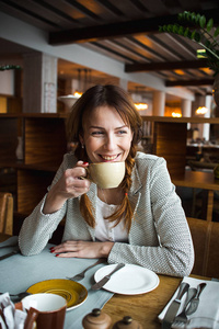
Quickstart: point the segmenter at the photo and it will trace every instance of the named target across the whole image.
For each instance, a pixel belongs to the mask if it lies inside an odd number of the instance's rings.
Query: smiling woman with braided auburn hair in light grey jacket
[[[24,220],[22,253],[39,253],[66,217],[62,243],[51,249],[57,257],[107,258],[188,275],[194,249],[181,200],[165,160],[136,151],[141,117],[129,95],[110,84],[89,89],[73,105],[67,132],[78,146]],[[108,161],[125,161],[126,174],[118,188],[103,190],[85,179],[85,168]]]

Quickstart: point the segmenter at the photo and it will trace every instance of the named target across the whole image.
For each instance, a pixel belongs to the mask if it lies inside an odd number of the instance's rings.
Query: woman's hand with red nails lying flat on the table
[[[50,252],[62,258],[107,258],[114,242],[66,241],[53,247]]]

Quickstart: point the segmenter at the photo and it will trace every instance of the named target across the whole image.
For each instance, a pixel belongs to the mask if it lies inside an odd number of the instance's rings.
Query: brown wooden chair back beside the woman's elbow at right
[[[192,274],[219,279],[219,223],[187,218],[195,249]]]

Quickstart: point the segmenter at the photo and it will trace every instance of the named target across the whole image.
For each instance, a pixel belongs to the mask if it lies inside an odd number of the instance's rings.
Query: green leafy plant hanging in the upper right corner
[[[219,72],[219,26],[214,27],[214,20],[207,20],[199,13],[184,11],[177,15],[178,23],[159,26],[159,32],[175,33],[187,37],[201,46],[197,50],[198,58],[207,58],[208,66]]]

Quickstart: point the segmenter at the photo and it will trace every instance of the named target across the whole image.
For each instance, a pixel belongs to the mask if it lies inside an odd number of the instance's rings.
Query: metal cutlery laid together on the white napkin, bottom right
[[[183,327],[187,321],[187,316],[194,314],[198,308],[199,296],[205,286],[206,283],[200,283],[197,288],[193,288],[189,287],[188,283],[181,283],[176,298],[171,303],[164,315],[162,329],[170,329],[173,324],[177,327]],[[176,316],[184,294],[187,295],[183,305],[183,310]]]

